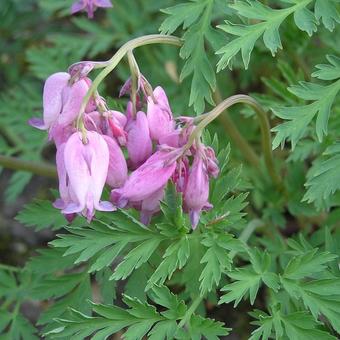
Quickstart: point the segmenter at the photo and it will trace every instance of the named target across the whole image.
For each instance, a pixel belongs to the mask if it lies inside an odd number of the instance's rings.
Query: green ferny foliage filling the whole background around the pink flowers
[[[221,175],[211,184],[214,209],[193,233],[172,186],[149,229],[134,211],[98,213],[90,225],[79,217],[66,226],[50,203],[56,183],[3,169],[2,177],[10,176],[1,188],[4,212],[27,199],[29,183],[40,183],[38,199],[16,207],[16,221],[59,235],[49,234],[48,246],[22,259],[0,252],[0,333],[25,340],[41,334],[105,339],[117,332],[126,339],[228,333],[336,339],[339,1],[112,2],[113,9],[89,20],[84,13],[70,16],[71,0],[0,1],[0,154],[54,162],[46,135],[27,125],[41,115],[44,79],[79,60],[109,59],[126,41],[161,32],[184,44],[135,51],[152,86],[167,91],[176,116],[209,111],[233,94],[256,98],[268,111],[285,190],[272,184],[256,115],[241,105],[204,135]],[[126,103],[117,97],[128,76],[123,61],[100,87],[112,109]],[[228,119],[259,155],[258,166],[228,133]],[[25,313],[27,301],[39,306],[37,318]]]

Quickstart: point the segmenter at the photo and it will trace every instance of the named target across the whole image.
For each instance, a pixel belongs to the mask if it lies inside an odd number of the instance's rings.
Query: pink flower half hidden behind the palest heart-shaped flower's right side
[[[106,183],[112,188],[124,185],[128,170],[124,154],[116,141],[108,136],[103,136],[109,148],[109,168]]]

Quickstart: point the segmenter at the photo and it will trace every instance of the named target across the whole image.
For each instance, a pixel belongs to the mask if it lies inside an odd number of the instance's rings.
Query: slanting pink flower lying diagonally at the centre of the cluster
[[[156,151],[131,173],[122,188],[112,190],[112,201],[123,208],[129,202],[150,199],[151,195],[164,188],[176,169],[176,160],[181,153],[181,149]]]

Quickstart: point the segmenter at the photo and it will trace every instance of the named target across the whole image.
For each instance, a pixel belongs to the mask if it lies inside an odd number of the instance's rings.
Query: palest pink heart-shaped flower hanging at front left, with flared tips
[[[90,221],[95,209],[114,210],[110,202],[100,201],[109,168],[109,149],[103,137],[88,131],[83,144],[81,133],[75,132],[65,144],[64,162],[71,201],[62,213],[82,212]]]

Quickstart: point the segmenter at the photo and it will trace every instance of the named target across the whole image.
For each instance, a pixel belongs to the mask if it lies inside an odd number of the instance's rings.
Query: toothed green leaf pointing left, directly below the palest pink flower
[[[146,262],[152,253],[145,252],[157,248],[164,236],[134,219],[125,211],[116,211],[110,216],[110,223],[93,221],[82,228],[67,228],[69,234],[58,235],[59,239],[50,242],[54,247],[67,248],[66,255],[77,254],[75,263],[93,260],[89,271],[97,271],[109,266],[128,244],[137,244],[118,266],[114,277],[126,277],[135,267]],[[96,242],[93,242],[96,240]]]

